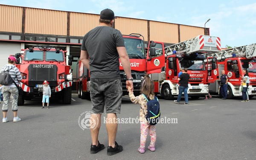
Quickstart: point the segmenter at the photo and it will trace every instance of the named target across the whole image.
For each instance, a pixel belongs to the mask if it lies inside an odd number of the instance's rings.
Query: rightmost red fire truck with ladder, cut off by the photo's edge
[[[248,87],[249,97],[256,96],[256,44],[234,47],[214,53],[212,57],[218,60],[218,69],[225,70],[228,76],[227,99],[233,96],[242,96],[240,92],[242,70],[247,69],[250,77],[250,85]],[[219,94],[220,79],[209,87],[210,93]]]

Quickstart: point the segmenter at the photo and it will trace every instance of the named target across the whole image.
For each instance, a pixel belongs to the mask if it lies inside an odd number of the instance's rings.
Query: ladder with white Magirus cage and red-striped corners
[[[192,53],[212,54],[221,51],[221,40],[218,37],[198,35],[187,41],[165,47],[165,55],[172,55],[176,52],[189,55]]]

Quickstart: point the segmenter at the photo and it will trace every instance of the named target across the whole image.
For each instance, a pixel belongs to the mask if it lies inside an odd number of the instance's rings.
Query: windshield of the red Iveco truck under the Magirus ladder
[[[180,67],[187,68],[188,70],[205,70],[204,60],[181,58]]]

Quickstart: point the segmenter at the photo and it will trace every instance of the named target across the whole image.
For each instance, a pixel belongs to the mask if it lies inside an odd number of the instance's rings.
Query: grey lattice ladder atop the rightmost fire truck
[[[221,52],[213,53],[208,55],[211,57],[216,57],[217,60],[221,58],[230,58],[230,57],[246,57],[253,58],[256,56],[256,44],[249,44],[241,47],[234,47],[222,50]]]

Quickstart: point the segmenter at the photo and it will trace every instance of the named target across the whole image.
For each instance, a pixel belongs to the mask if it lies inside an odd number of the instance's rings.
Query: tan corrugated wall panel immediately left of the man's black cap
[[[70,36],[84,36],[99,25],[99,15],[70,12]]]

